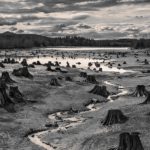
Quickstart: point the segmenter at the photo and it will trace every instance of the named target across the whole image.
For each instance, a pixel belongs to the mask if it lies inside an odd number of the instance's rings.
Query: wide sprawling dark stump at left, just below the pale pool
[[[12,72],[13,75],[17,77],[26,77],[26,78],[33,78],[33,75],[29,73],[27,67],[19,68],[19,69],[14,69]]]

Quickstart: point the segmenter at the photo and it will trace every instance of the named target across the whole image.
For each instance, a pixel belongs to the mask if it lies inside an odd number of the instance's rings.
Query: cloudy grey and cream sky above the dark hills
[[[150,0],[0,0],[0,32],[150,38]]]

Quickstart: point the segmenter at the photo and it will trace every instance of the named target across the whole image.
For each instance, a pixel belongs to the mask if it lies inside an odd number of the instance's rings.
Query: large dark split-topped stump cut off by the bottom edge
[[[117,150],[144,150],[141,140],[139,138],[139,133],[124,132],[120,134],[119,147]]]

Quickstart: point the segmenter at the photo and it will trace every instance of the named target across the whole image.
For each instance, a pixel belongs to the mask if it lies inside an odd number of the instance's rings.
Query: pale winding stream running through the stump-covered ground
[[[108,81],[105,81],[105,84],[118,87],[118,89],[120,91],[116,95],[110,95],[108,97],[109,102],[113,102],[114,97],[118,98],[120,96],[127,95],[129,93],[128,90],[126,90],[124,87],[122,87],[120,85],[115,85]],[[58,111],[58,112],[48,115],[48,124],[51,127],[47,128],[44,131],[39,131],[37,133],[28,135],[29,140],[32,143],[34,143],[46,150],[54,150],[54,149],[59,148],[59,146],[57,146],[56,143],[46,143],[46,142],[42,141],[41,136],[44,136],[46,134],[63,133],[70,128],[75,128],[75,127],[85,123],[88,118],[82,117],[83,113],[91,113],[91,112],[99,110],[100,108],[97,106],[97,103],[99,103],[97,100],[95,100],[95,101],[93,100],[93,101],[91,101],[90,104],[88,104],[86,106],[86,110],[77,112],[77,113],[71,113],[71,110],[69,110],[69,111],[63,111],[63,112]]]

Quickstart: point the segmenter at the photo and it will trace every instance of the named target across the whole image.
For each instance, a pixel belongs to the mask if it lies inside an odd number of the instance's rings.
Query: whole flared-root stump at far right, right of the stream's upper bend
[[[148,91],[146,90],[144,85],[137,85],[136,90],[132,95],[137,97],[143,97],[148,95]]]

